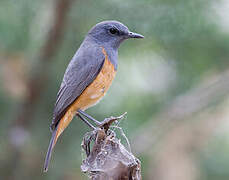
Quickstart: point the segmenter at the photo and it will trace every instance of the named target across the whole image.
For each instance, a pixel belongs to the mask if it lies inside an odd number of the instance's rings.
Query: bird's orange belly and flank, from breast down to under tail
[[[90,106],[95,105],[109,89],[115,77],[116,71],[113,64],[108,60],[107,54],[104,49],[103,53],[105,55],[105,62],[100,73],[97,75],[95,80],[83,91],[83,93],[75,100],[75,102],[68,108],[65,115],[61,118],[58,124],[55,142],[58,139],[59,135],[69,125],[78,109],[85,110]]]

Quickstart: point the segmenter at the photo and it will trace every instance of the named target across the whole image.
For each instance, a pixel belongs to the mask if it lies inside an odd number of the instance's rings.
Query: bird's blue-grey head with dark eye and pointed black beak
[[[118,49],[120,44],[129,38],[144,38],[141,34],[130,32],[118,21],[103,21],[96,24],[88,32],[88,37],[107,48]]]

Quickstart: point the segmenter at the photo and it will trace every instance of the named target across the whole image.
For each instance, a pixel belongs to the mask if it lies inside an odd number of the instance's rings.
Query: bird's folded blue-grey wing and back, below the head
[[[54,130],[67,108],[80,96],[99,74],[105,57],[101,48],[83,48],[76,52],[64,74],[53,112]]]

